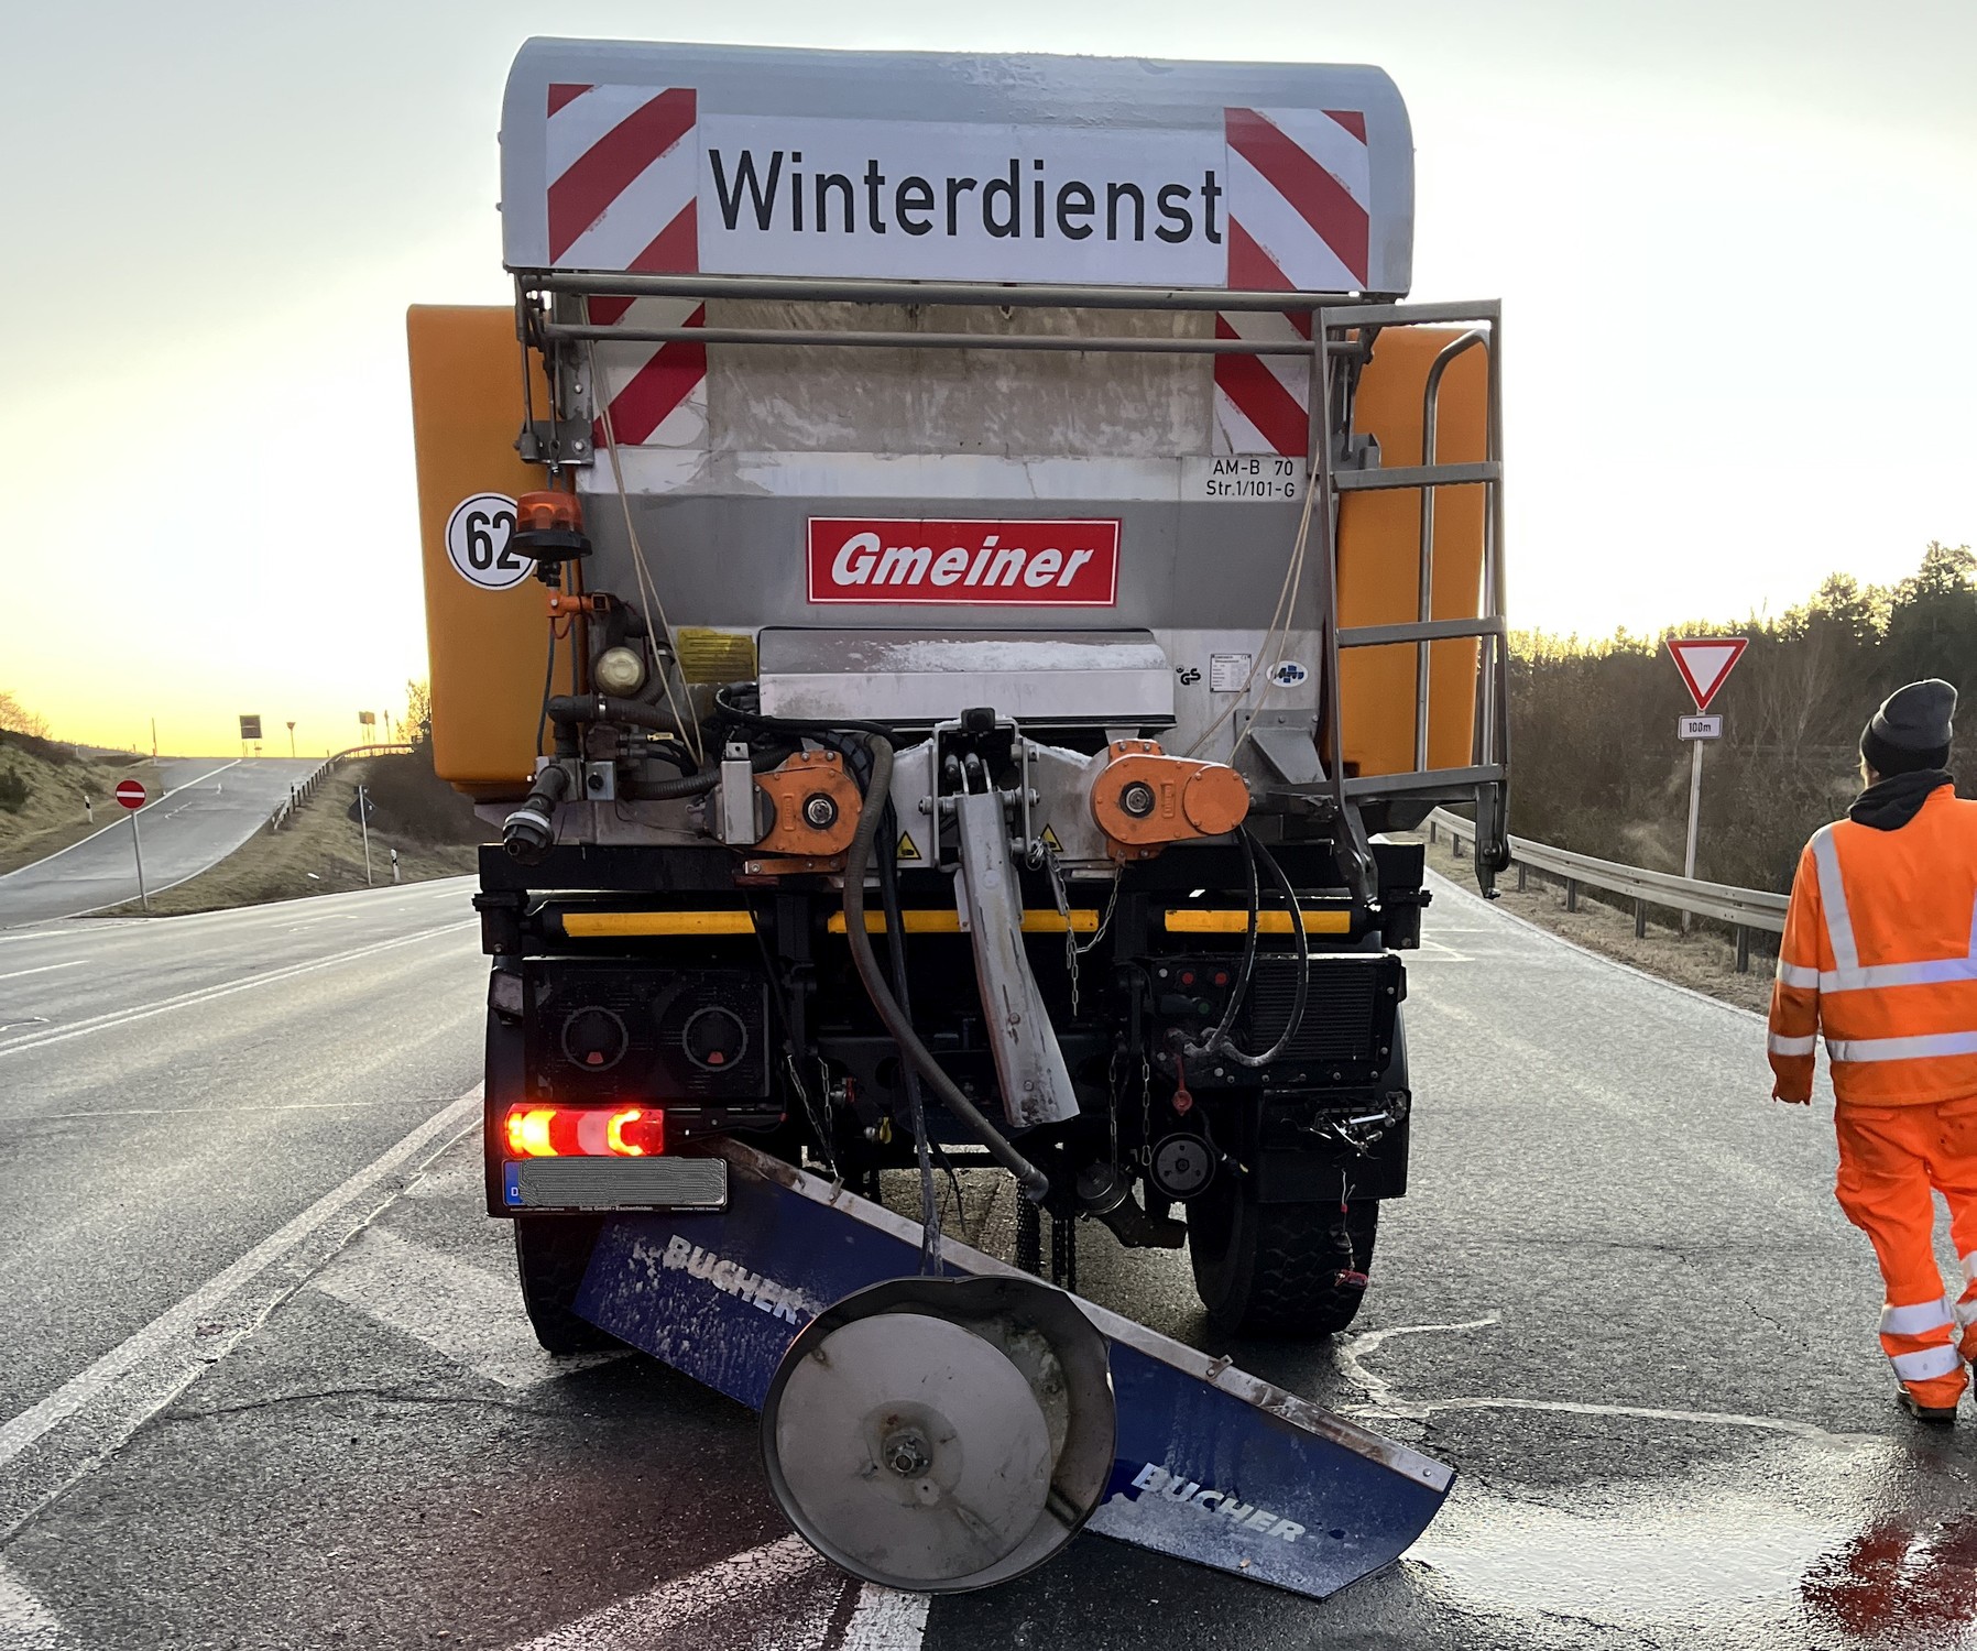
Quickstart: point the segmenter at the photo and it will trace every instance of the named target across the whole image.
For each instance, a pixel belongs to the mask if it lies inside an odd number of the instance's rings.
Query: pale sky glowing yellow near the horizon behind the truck
[[[156,718],[166,751],[399,710],[403,312],[508,301],[528,34],[1378,63],[1414,297],[1506,304],[1514,623],[1775,613],[1977,540],[1967,0],[77,0],[8,24],[0,690],[77,739]]]

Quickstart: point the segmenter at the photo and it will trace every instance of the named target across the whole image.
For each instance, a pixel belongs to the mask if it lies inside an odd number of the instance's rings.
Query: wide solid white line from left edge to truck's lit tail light
[[[478,1115],[480,1087],[474,1086],[176,1307],[0,1426],[0,1467],[34,1451],[26,1471],[0,1475],[0,1538],[119,1449],[208,1364],[259,1329],[328,1256],[391,1202],[397,1188],[387,1184],[393,1176],[415,1174],[465,1135]],[[63,1432],[49,1437],[57,1428]],[[36,1449],[43,1439],[45,1449]]]

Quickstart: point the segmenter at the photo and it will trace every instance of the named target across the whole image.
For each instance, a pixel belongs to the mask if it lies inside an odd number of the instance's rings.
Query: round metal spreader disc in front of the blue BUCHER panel
[[[1105,1339],[1032,1279],[874,1285],[791,1343],[761,1445],[789,1522],[852,1576],[987,1588],[1056,1554],[1105,1495]]]

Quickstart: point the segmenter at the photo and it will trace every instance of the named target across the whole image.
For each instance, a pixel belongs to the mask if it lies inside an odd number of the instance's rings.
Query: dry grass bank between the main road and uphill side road
[[[172,917],[186,912],[219,912],[231,906],[259,906],[267,900],[297,900],[312,894],[342,894],[364,888],[364,838],[356,821],[358,785],[370,783],[372,769],[386,759],[346,763],[310,803],[279,832],[261,830],[190,882],[150,898],[150,915]],[[425,842],[391,830],[386,817],[370,828],[372,878],[391,882],[391,850],[397,850],[399,882],[457,878],[474,870],[473,842]],[[461,834],[467,834],[465,830]],[[136,917],[136,902],[101,912],[103,917]]]

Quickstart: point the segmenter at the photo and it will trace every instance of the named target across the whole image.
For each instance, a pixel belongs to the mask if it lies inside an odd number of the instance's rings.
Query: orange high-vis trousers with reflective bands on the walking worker
[[[1953,1406],[1977,1362],[1977,1095],[1898,1107],[1841,1105],[1841,1208],[1874,1244],[1888,1285],[1880,1345],[1920,1404]],[[1963,1258],[1951,1301],[1935,1269],[1935,1200]]]

